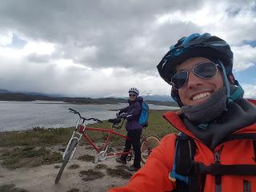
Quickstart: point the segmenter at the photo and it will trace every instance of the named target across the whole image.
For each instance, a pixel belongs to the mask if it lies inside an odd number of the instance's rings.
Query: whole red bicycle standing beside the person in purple
[[[123,135],[123,134],[119,134],[118,132],[114,131],[114,128],[116,129],[120,129],[123,125],[123,122],[124,120],[122,121],[122,125],[119,126],[118,123],[121,122],[121,119],[120,118],[115,118],[115,119],[109,119],[108,122],[112,122],[112,126],[110,129],[106,129],[106,128],[94,128],[94,127],[87,127],[84,122],[85,121],[90,121],[90,120],[94,120],[94,122],[102,122],[101,120],[99,120],[98,118],[86,118],[86,117],[82,117],[81,114],[77,111],[77,110],[73,110],[73,109],[70,109],[70,112],[71,113],[74,113],[74,114],[78,114],[79,118],[75,124],[75,127],[74,127],[74,131],[73,131],[73,134],[70,138],[70,141],[68,142],[67,146],[66,146],[66,150],[62,156],[62,166],[60,166],[60,169],[58,170],[58,174],[54,180],[55,184],[58,184],[58,181],[59,179],[61,178],[62,176],[62,173],[63,173],[63,170],[65,169],[65,166],[67,164],[67,162],[70,162],[70,160],[73,158],[74,156],[74,153],[77,149],[77,146],[78,146],[78,143],[79,141],[81,140],[81,138],[85,138],[91,146],[94,147],[94,150],[96,150],[97,154],[95,155],[95,158],[94,158],[94,163],[98,163],[98,161],[103,161],[105,160],[107,157],[110,157],[110,156],[115,156],[115,155],[128,155],[127,156],[127,161],[130,161],[133,157],[133,154],[134,154],[134,151],[133,150],[129,150],[129,151],[118,151],[118,152],[113,152],[113,153],[110,153],[109,151],[109,145],[110,145],[110,138],[111,138],[111,135],[114,134],[118,137],[121,137],[121,138],[124,138],[124,139],[129,139],[126,135]],[[107,133],[107,137],[106,137],[106,141],[104,143],[104,145],[102,146],[102,149],[101,147],[98,147],[96,145],[95,142],[93,142],[91,139],[90,139],[90,136],[88,134],[86,134],[86,131],[100,131],[100,132],[105,132]],[[152,140],[152,138],[154,138]],[[141,156],[141,161],[143,163],[146,162],[146,158],[149,156],[151,150],[152,150],[152,146],[149,146],[148,144],[148,141],[153,141],[152,143],[154,144],[155,141],[157,140],[159,142],[159,139],[156,138],[155,136],[150,136],[149,137],[150,140],[148,140],[148,138],[143,138],[142,136],[142,146],[144,146],[144,148],[146,149],[146,155],[144,155],[143,157]],[[150,142],[151,143],[151,142]],[[154,146],[153,146],[154,147]]]

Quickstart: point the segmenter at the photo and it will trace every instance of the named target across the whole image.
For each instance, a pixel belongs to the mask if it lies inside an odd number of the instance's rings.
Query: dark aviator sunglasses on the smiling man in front
[[[190,68],[189,70],[182,70],[171,78],[170,84],[174,86],[175,89],[182,89],[189,78],[190,70],[195,74],[198,78],[209,79],[213,78],[217,74],[217,66],[218,64],[214,62],[202,62],[198,63],[196,66]]]

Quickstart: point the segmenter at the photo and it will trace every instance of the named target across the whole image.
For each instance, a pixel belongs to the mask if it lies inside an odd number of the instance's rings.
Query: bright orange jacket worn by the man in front
[[[194,138],[196,144],[196,154],[194,156],[195,162],[202,162],[206,166],[214,163],[214,153],[206,145],[198,140],[184,126],[178,114],[167,112],[164,118],[170,122],[176,129],[182,131],[184,134]],[[256,124],[246,126],[233,134],[256,134]],[[175,183],[170,182],[168,176],[172,170],[174,162],[174,149],[175,149],[175,134],[168,134],[160,145],[156,147],[146,165],[143,166],[126,186],[117,187],[110,192],[156,192],[156,191],[171,191],[175,189]],[[220,162],[222,165],[232,164],[250,164],[256,165],[253,142],[251,140],[232,140],[223,142],[215,148],[215,151],[222,148]],[[246,182],[245,182],[246,181]],[[245,186],[250,183],[250,186]],[[249,189],[250,190],[246,190]],[[215,191],[215,178],[207,174],[205,182],[206,192]],[[223,175],[222,176],[222,192],[243,192],[243,191],[256,191],[256,176],[237,176],[237,175]]]

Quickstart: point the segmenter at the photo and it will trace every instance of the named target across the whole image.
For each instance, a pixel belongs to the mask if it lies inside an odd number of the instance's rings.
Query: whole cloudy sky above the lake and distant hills
[[[68,96],[170,94],[156,66],[192,33],[225,39],[234,75],[256,97],[256,2],[2,0],[0,89]]]

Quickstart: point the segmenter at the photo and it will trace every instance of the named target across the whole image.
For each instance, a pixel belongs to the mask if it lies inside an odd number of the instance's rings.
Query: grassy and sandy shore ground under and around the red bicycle
[[[150,111],[149,126],[143,129],[144,135],[155,134],[162,138],[176,131],[162,118],[165,111]],[[110,128],[110,123],[104,121],[90,124],[90,127]],[[74,158],[66,166],[58,185],[55,185],[54,178],[73,130],[67,127],[0,132],[0,191],[106,191],[129,181],[134,174],[127,170],[131,162],[120,166],[114,158],[107,158],[95,165],[92,161],[96,153],[82,138]],[[126,134],[124,126],[115,131]],[[87,134],[99,147],[106,138],[106,133],[102,132],[95,134],[88,131]],[[123,145],[123,138],[111,137],[113,149],[122,150]],[[98,182],[102,184],[97,185]]]

